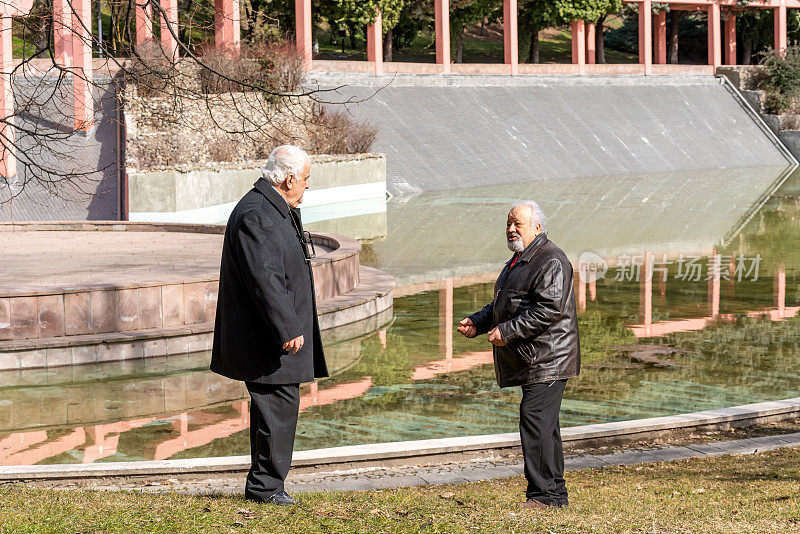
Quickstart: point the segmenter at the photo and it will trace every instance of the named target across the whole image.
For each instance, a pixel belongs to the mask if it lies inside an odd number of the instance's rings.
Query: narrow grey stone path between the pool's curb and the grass
[[[755,454],[784,447],[800,447],[800,432],[731,441],[716,441],[702,445],[665,446],[652,449],[617,451],[604,455],[579,455],[565,459],[567,471],[666,462],[685,458],[704,458],[726,454]],[[445,465],[408,466],[397,468],[362,468],[289,474],[286,489],[289,493],[313,491],[361,491],[433,484],[462,484],[479,480],[508,478],[523,473],[522,458],[472,460]],[[92,489],[128,490],[148,493],[174,492],[189,495],[242,493],[244,477],[207,478],[203,480],[166,482],[138,481],[93,485]]]

